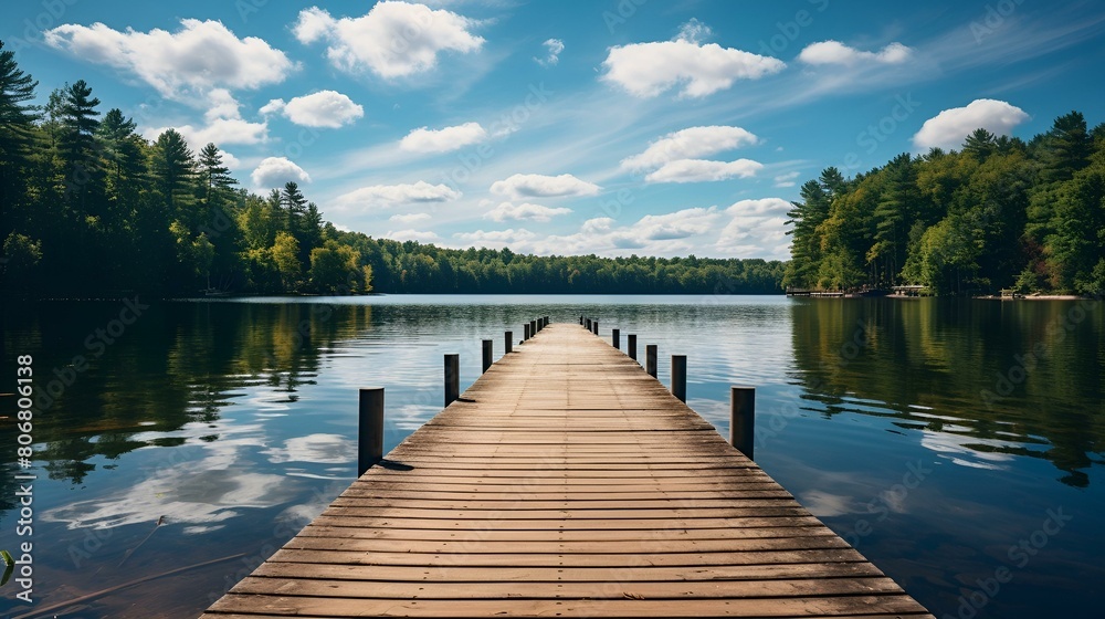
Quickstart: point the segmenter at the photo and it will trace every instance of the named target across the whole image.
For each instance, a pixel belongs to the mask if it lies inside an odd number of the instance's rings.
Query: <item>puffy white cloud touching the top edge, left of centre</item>
[[[470,53],[484,40],[469,32],[474,20],[425,4],[379,2],[359,18],[335,19],[324,9],[299,12],[294,33],[301,43],[326,40],[330,63],[349,73],[365,69],[386,78],[432,70],[443,51]]]

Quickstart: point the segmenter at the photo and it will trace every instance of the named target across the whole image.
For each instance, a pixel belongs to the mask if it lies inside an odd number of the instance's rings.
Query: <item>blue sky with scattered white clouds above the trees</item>
[[[1096,1],[23,0],[0,40],[339,229],[522,253],[786,260],[828,166],[1105,122]]]

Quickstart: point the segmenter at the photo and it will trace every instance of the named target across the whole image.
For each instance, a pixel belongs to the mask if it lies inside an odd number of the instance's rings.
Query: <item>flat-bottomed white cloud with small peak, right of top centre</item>
[[[681,97],[702,97],[737,80],[758,80],[787,66],[779,59],[702,43],[708,34],[705,24],[694,21],[674,41],[610,48],[601,78],[638,97],[654,97],[676,86]]]

